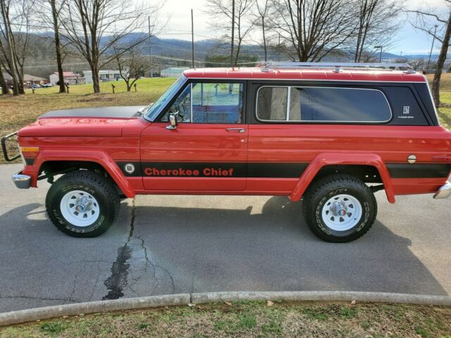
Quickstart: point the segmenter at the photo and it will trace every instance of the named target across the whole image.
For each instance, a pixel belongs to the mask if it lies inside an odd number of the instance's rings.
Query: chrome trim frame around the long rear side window
[[[387,102],[388,109],[390,109],[390,118],[388,120],[385,120],[385,121],[336,121],[336,120],[330,120],[330,121],[329,120],[315,120],[315,121],[310,121],[310,120],[288,120],[287,118],[285,118],[285,120],[262,120],[262,119],[259,118],[257,112],[259,111],[259,107],[258,107],[258,104],[259,104],[259,92],[260,92],[260,89],[264,88],[264,87],[288,88],[288,92],[290,91],[291,87],[294,87],[294,88],[329,88],[329,89],[373,90],[373,91],[376,91],[376,92],[380,92],[383,95],[385,101]],[[287,94],[287,95],[288,95],[287,99],[290,99],[290,94]],[[290,102],[287,101],[287,109],[288,110],[289,110],[289,107],[290,107]],[[354,88],[354,87],[352,87],[352,88],[344,88],[344,87],[314,87],[314,86],[268,86],[268,85],[261,86],[257,90],[257,95],[256,95],[256,98],[255,98],[255,111],[254,111],[254,113],[255,113],[255,118],[257,118],[258,121],[270,122],[270,123],[304,123],[304,124],[312,124],[312,123],[343,123],[343,124],[371,123],[372,124],[372,123],[388,123],[390,120],[393,119],[392,107],[390,106],[390,103],[388,102],[387,96],[385,96],[385,94],[381,90],[373,89],[373,88]]]

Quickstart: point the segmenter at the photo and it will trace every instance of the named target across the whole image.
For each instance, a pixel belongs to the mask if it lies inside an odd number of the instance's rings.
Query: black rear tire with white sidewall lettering
[[[338,231],[326,225],[323,207],[338,195],[350,195],[361,204],[362,216],[350,229]],[[338,197],[337,197],[338,198]],[[328,213],[328,208],[324,209]],[[335,209],[336,210],[336,209]],[[334,210],[334,212],[335,212]],[[347,214],[347,209],[342,209]],[[350,209],[351,210],[351,209]],[[304,217],[310,230],[326,242],[346,243],[362,237],[373,225],[378,212],[376,198],[361,180],[350,175],[330,175],[315,182],[304,194]],[[332,215],[332,214],[331,214]],[[339,218],[340,215],[335,216]]]

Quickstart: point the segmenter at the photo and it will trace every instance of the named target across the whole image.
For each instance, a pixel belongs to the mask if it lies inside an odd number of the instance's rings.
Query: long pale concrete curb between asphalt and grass
[[[137,308],[214,303],[218,301],[364,301],[370,303],[408,303],[420,305],[451,306],[451,296],[424,294],[392,294],[388,292],[300,291],[300,292],[203,292],[195,294],[170,294],[165,296],[136,297],[113,301],[91,301],[29,310],[0,313],[0,326],[35,320],[122,311]]]

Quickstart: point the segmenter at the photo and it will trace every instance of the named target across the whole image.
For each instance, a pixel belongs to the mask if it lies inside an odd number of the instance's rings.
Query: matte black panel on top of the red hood
[[[99,108],[75,108],[62,111],[49,111],[40,118],[132,118],[141,115],[143,106],[119,106]]]

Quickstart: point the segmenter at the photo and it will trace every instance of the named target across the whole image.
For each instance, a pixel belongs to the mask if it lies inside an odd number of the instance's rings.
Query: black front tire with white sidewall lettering
[[[73,191],[86,192],[86,196],[91,195],[98,203],[98,206],[95,204],[98,215],[94,216],[97,218],[91,225],[78,226],[63,216],[61,200]],[[51,223],[72,237],[97,237],[103,234],[116,219],[120,205],[119,195],[111,180],[89,170],[78,170],[60,177],[51,185],[45,201]]]

